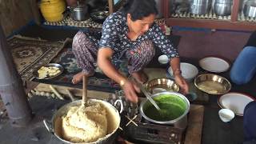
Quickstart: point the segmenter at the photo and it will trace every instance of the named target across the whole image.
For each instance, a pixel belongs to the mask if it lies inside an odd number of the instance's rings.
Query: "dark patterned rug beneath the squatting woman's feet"
[[[74,74],[78,74],[82,69],[79,68],[78,62],[74,57],[72,48],[69,45],[65,47],[56,58],[52,60],[54,63],[59,63],[64,67],[64,72],[57,78],[48,80],[38,80],[34,79],[36,82],[42,82],[47,84],[53,84],[58,86],[69,86],[82,88],[82,82],[74,85],[72,83],[72,78]],[[126,62],[116,62],[118,63],[118,70],[124,75],[128,75],[128,70],[126,69]],[[88,78],[87,89],[88,90],[99,90],[106,92],[115,92],[115,90],[120,90],[118,83],[114,82],[112,79],[106,77],[105,74],[96,66],[94,76]]]

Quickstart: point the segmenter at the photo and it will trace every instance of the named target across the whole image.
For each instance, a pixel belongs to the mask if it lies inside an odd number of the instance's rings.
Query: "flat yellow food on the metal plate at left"
[[[60,73],[61,70],[59,70],[58,67],[55,66],[42,66],[39,70],[38,70],[38,78],[39,79],[43,79],[43,78],[47,78],[47,77],[52,77],[58,73]]]

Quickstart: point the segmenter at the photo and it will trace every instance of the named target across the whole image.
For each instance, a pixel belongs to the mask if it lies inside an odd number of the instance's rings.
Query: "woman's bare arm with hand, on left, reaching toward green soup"
[[[112,55],[113,50],[110,48],[100,48],[98,50],[98,66],[106,76],[113,79],[115,82],[118,82],[118,84],[122,86],[122,89],[126,94],[126,98],[131,102],[138,102],[138,96],[136,94],[136,91],[139,92],[138,87],[115,69],[113,64],[110,62]]]

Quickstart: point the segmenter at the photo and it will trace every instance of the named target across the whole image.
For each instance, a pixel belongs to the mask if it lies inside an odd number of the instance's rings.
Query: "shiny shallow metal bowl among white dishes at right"
[[[216,74],[201,74],[194,79],[194,85],[207,94],[226,94],[231,90],[231,83]]]

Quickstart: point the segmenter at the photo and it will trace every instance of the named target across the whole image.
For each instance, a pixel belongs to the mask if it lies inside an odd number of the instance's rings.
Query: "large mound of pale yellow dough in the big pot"
[[[106,134],[106,109],[100,103],[70,107],[62,117],[62,137],[70,142],[96,142]]]

